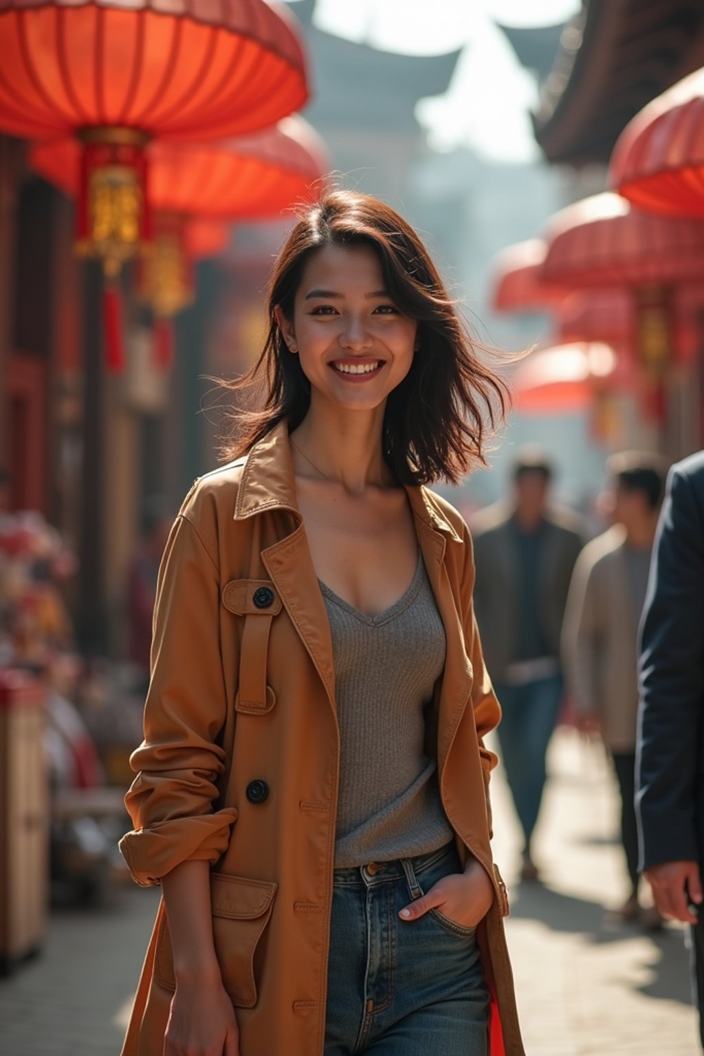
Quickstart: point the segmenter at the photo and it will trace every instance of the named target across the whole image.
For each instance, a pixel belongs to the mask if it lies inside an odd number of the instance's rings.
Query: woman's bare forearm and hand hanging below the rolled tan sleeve
[[[240,1036],[212,938],[210,866],[183,862],[161,879],[176,992],[164,1056],[239,1056]]]

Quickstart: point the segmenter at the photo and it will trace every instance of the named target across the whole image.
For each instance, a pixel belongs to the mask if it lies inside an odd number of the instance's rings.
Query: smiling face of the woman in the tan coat
[[[416,320],[392,302],[368,246],[317,250],[297,290],[293,319],[280,312],[277,319],[301,357],[311,400],[373,410],[411,370]]]

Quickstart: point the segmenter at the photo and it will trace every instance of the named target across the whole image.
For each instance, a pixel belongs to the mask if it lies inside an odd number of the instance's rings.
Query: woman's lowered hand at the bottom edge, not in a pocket
[[[164,1056],[240,1056],[240,1031],[222,979],[176,981]]]

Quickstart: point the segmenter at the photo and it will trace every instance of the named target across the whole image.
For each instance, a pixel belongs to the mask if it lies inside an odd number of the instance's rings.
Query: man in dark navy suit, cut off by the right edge
[[[640,868],[661,913],[691,925],[704,1046],[704,452],[670,470],[641,639]]]

